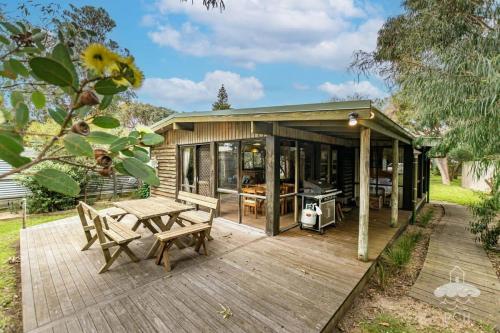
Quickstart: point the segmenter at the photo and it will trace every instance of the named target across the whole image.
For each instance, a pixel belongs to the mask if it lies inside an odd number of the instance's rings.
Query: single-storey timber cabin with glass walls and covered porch
[[[428,147],[370,100],[175,113],[153,125],[164,135],[152,150],[161,185],[217,197],[221,218],[269,236],[306,227],[302,213],[316,203],[324,228],[359,210],[358,258],[368,258],[370,210],[415,214],[428,201]],[[333,206],[332,206],[333,202]],[[302,223],[304,222],[304,223]]]

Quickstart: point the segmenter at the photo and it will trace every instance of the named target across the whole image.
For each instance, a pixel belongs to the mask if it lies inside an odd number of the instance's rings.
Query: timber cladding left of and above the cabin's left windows
[[[152,149],[151,155],[158,161],[160,186],[152,187],[151,194],[175,198],[177,189],[177,145],[202,144],[213,141],[231,141],[265,137],[254,134],[250,122],[195,123],[193,131],[170,130],[165,132],[163,145]]]

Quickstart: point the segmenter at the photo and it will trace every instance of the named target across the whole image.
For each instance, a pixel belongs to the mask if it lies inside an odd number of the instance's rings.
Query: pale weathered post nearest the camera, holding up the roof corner
[[[368,260],[368,219],[370,211],[370,129],[361,127],[359,147],[359,230],[358,259]]]

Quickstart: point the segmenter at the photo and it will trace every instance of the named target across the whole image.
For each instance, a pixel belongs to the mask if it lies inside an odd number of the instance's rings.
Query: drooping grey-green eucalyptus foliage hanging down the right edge
[[[373,52],[357,52],[352,67],[396,86],[421,127],[439,127],[435,154],[467,147],[477,174],[496,166],[492,195],[473,208],[473,232],[486,245],[500,234],[500,57],[495,0],[406,0],[389,18]]]

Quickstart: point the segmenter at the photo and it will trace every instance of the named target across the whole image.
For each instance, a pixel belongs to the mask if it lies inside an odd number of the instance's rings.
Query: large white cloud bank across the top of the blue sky
[[[343,70],[353,51],[375,47],[384,22],[354,0],[233,1],[222,13],[207,11],[201,1],[159,0],[156,6],[163,16],[181,14],[186,21],[158,24],[149,32],[154,43],[240,64],[293,62]]]

